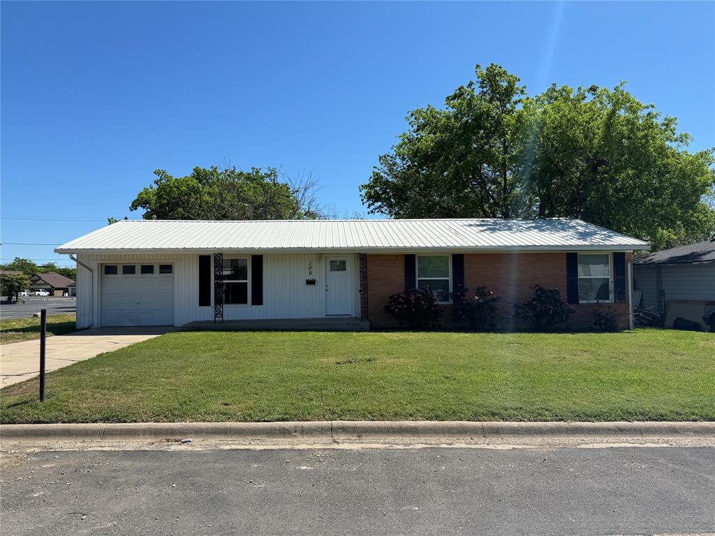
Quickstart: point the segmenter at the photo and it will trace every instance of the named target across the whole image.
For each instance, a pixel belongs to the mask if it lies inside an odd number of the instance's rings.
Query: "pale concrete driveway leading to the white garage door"
[[[101,327],[47,337],[46,371],[84,361],[102,352],[112,352],[142,342],[174,327]],[[39,339],[0,346],[0,387],[22,382],[39,374]]]

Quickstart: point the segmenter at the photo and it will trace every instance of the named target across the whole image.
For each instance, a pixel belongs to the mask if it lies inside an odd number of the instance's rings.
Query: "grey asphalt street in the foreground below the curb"
[[[1,472],[12,535],[694,535],[715,449],[55,451]]]

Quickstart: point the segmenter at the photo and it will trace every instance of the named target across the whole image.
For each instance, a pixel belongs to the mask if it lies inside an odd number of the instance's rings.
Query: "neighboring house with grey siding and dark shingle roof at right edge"
[[[636,294],[641,295],[636,307],[665,313],[669,304],[677,305],[680,312],[667,315],[666,327],[681,316],[706,329],[702,321],[704,304],[715,301],[715,240],[636,257],[633,278]]]

